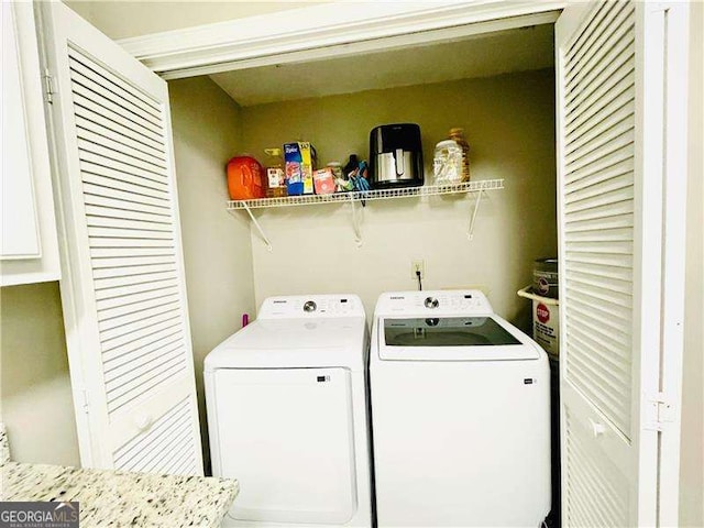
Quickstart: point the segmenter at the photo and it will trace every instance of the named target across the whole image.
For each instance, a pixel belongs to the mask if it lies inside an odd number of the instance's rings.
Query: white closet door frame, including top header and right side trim
[[[493,31],[554,23],[568,0],[437,0],[432,3],[331,2],[273,14],[174,30],[118,41],[164,79],[394,50]],[[686,195],[686,61],[689,8],[647,2],[669,28],[667,201],[662,229],[661,393],[659,416],[660,526],[676,526],[679,510],[680,403],[684,312]],[[315,28],[310,21],[315,20]],[[645,417],[644,417],[645,418]],[[648,417],[650,418],[650,416]]]

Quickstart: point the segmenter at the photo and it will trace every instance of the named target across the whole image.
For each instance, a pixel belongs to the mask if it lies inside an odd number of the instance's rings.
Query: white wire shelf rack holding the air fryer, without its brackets
[[[348,204],[350,201],[388,200],[394,198],[411,198],[417,196],[454,195],[504,188],[504,179],[480,179],[463,184],[429,185],[424,187],[402,187],[396,189],[378,189],[332,195],[302,195],[285,198],[260,198],[256,200],[228,201],[228,210],[262,209],[272,207],[311,206],[316,204]]]

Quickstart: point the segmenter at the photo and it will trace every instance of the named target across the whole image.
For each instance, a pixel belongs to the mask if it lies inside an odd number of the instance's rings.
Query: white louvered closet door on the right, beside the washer
[[[591,2],[556,25],[565,527],[661,514],[668,16]]]

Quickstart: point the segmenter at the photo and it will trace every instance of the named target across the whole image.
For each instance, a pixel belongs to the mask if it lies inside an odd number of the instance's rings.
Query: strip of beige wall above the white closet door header
[[[64,3],[109,37],[127,38],[324,2],[64,0]]]

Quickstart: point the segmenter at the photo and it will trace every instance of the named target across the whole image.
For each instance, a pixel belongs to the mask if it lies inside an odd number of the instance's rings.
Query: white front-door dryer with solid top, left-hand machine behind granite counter
[[[366,360],[355,295],[271,297],[205,361],[223,526],[372,526]]]

